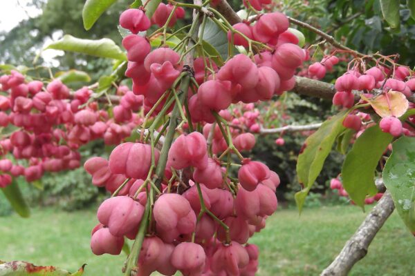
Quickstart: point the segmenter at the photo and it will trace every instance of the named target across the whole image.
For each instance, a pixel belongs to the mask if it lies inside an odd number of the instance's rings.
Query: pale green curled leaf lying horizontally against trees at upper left
[[[94,57],[106,57],[109,59],[127,60],[124,52],[111,39],[78,39],[69,34],[62,39],[51,43],[46,49],[64,50],[69,52],[80,52]]]

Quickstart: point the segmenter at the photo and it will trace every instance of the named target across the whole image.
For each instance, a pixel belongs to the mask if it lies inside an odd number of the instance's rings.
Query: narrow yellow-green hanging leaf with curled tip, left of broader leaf
[[[300,212],[308,191],[320,175],[324,160],[333,148],[336,137],[345,130],[342,122],[347,114],[349,110],[331,117],[304,142],[303,150],[297,161],[298,181],[304,188],[295,194],[295,201]]]

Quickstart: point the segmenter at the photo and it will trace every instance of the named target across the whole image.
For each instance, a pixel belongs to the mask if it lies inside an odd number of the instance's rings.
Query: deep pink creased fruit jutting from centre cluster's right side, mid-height
[[[270,177],[270,169],[259,161],[243,160],[239,168],[238,179],[243,188],[248,191],[255,190],[257,185]]]

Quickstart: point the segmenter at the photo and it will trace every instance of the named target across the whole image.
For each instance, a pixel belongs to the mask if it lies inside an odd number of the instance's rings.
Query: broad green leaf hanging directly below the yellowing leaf
[[[379,126],[367,128],[349,151],[342,167],[342,183],[349,197],[365,210],[365,198],[378,193],[375,170],[380,157],[394,137]]]

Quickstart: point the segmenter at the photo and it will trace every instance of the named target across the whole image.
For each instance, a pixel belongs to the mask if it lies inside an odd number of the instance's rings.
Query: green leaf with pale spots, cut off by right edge
[[[392,144],[392,154],[382,178],[394,199],[396,210],[415,235],[415,138],[400,137]]]

